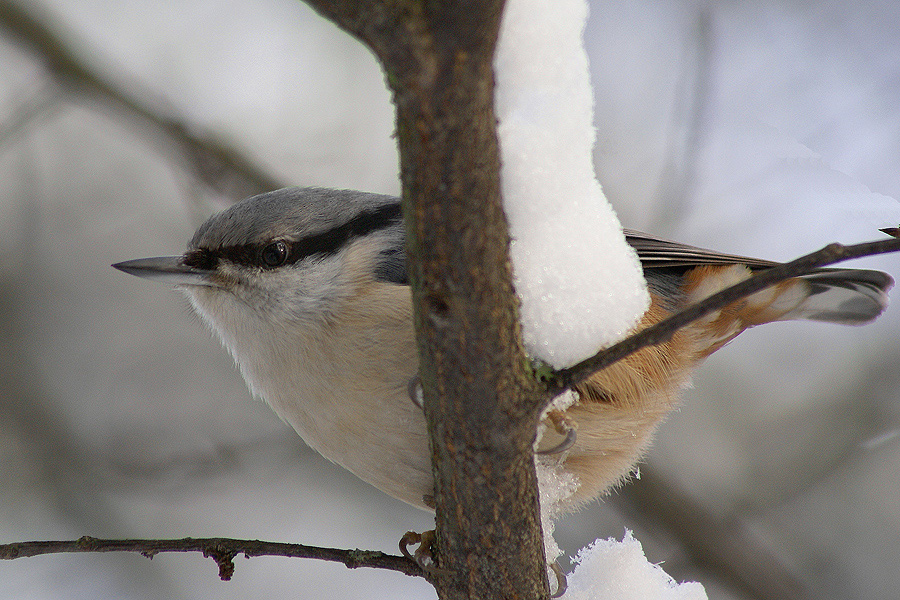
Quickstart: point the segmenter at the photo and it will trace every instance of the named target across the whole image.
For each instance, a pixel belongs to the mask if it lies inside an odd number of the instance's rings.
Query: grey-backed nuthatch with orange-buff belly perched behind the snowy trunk
[[[650,293],[639,331],[779,263],[625,230]],[[434,509],[405,230],[393,196],[293,187],[211,216],[186,252],[113,267],[174,284],[265,400],[325,458],[413,506]],[[574,387],[545,417],[538,452],[578,482],[562,510],[627,479],[704,358],[773,321],[861,325],[887,306],[886,273],[822,268],[738,300]],[[412,394],[415,395],[414,393]]]

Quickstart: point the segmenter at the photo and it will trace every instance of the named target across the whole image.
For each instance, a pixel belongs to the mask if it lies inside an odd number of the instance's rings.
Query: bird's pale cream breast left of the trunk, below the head
[[[342,318],[273,324],[229,293],[186,288],[251,392],[325,458],[391,496],[426,508],[433,494],[424,414],[408,397],[418,369],[409,292],[373,286]],[[385,297],[401,294],[403,298]],[[403,314],[405,312],[405,314]],[[392,314],[393,313],[393,314]]]

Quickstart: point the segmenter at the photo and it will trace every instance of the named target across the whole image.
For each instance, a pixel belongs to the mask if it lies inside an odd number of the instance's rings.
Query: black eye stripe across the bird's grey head
[[[371,211],[360,213],[343,225],[333,227],[322,233],[311,235],[296,241],[283,240],[287,245],[288,255],[279,266],[294,264],[313,255],[329,256],[354,238],[362,237],[379,229],[384,229],[400,219],[399,204],[385,204]],[[262,261],[262,251],[272,241],[261,244],[242,244],[225,246],[211,250],[197,248],[188,251],[184,263],[199,269],[215,269],[220,258],[246,266],[272,268]],[[277,268],[277,267],[276,267]]]

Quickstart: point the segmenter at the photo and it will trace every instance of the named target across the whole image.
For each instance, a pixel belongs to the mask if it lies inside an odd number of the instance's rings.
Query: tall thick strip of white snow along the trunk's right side
[[[511,0],[495,57],[504,206],[526,347],[568,366],[623,338],[649,305],[597,182],[584,0]]]

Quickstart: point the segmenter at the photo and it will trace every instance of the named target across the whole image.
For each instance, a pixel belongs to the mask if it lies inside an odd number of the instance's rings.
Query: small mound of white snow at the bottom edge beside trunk
[[[706,600],[699,583],[677,583],[644,556],[630,531],[622,541],[597,540],[578,553],[565,600]]]

